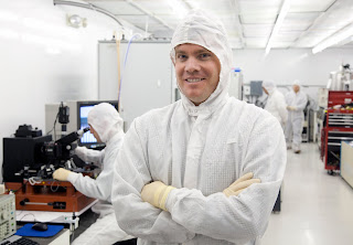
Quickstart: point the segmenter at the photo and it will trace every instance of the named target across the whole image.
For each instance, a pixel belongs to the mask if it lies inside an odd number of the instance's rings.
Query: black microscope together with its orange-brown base
[[[66,181],[53,180],[58,168],[77,169],[75,142],[89,128],[73,131],[58,140],[42,136],[38,128],[21,125],[14,137],[3,138],[3,181],[15,194],[17,210],[78,212],[95,201]],[[85,174],[89,175],[89,172]]]

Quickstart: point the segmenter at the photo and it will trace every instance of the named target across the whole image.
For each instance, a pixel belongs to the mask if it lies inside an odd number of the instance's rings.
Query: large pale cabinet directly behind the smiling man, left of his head
[[[126,53],[128,51],[128,55]],[[125,129],[153,108],[175,100],[175,78],[169,42],[120,43],[120,114]],[[98,43],[98,99],[118,99],[118,57],[114,41]]]

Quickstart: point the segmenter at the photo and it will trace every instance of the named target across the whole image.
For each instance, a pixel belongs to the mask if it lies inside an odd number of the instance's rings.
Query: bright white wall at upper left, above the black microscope
[[[66,13],[87,18],[87,28],[67,26]],[[51,0],[1,2],[1,162],[2,138],[19,125],[45,134],[46,103],[97,99],[97,41],[111,39],[118,29],[101,13]]]

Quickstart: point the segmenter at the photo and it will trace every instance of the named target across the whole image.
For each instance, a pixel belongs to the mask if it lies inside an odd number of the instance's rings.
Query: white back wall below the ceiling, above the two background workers
[[[312,54],[311,50],[234,50],[234,66],[240,67],[244,83],[272,79],[277,84],[291,84],[295,79],[309,85],[325,85],[330,72],[344,63],[353,67],[353,50],[329,49]]]

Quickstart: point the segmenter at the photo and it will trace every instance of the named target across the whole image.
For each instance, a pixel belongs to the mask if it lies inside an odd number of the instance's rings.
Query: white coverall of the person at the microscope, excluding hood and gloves
[[[99,214],[99,219],[83,234],[75,238],[73,245],[106,245],[133,238],[119,227],[110,201],[113,168],[118,151],[122,145],[122,140],[124,137],[121,137],[121,135],[117,135],[110,139],[111,142],[107,142],[106,148],[100,151],[100,155],[104,156],[104,162],[95,162],[98,164],[100,163],[103,168],[97,179],[94,180],[89,177],[83,177],[81,173],[68,175],[68,181],[71,181],[79,192],[87,196],[99,199],[99,201],[92,207],[95,213]],[[89,157],[86,156],[88,162],[94,162],[94,160],[99,159],[96,153],[99,151],[89,151],[96,150],[88,150],[87,156],[93,157],[90,160]]]

